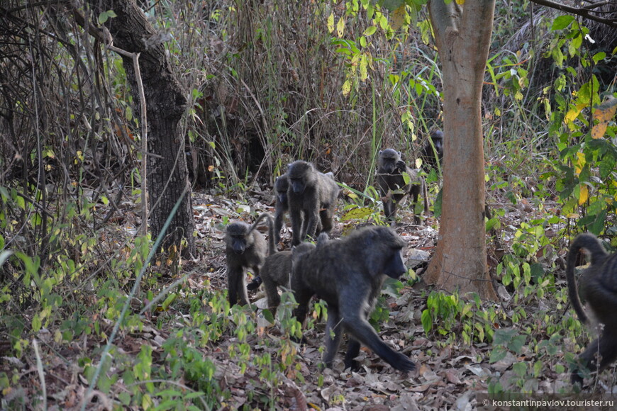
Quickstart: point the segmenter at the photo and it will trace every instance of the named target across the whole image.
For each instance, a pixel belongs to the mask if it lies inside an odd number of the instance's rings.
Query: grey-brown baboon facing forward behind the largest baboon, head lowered
[[[291,245],[300,244],[307,236],[315,237],[317,231],[330,232],[338,198],[338,184],[333,177],[320,173],[309,162],[297,160],[289,164],[287,179],[289,217],[294,232]]]

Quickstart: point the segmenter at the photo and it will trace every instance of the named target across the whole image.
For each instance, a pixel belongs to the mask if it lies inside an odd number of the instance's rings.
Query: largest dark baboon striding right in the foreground
[[[325,236],[325,237],[322,237]],[[317,245],[302,243],[291,252],[291,290],[303,323],[313,295],[328,303],[326,351],[323,362],[331,367],[343,331],[350,335],[345,368],[358,369],[355,357],[364,344],[400,371],[416,368],[404,354],[379,338],[367,316],[382,290],[386,276],[399,278],[407,270],[401,249],[405,242],[390,227],[362,227],[342,240],[320,235]]]

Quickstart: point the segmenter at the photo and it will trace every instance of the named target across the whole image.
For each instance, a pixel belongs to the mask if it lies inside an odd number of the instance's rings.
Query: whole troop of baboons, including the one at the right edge
[[[441,169],[443,133],[430,133],[421,151],[425,169]],[[424,211],[428,213],[426,184],[419,169],[411,169],[401,153],[386,148],[379,152],[376,184],[382,196],[384,217],[391,223],[406,194],[411,197],[414,218],[418,196],[422,194]],[[227,227],[226,257],[228,298],[230,305],[247,305],[245,269],[251,269],[255,280],[249,289],[263,282],[267,305],[276,313],[280,303],[278,288],[291,290],[298,307],[294,316],[303,323],[313,296],[326,301],[326,349],[323,363],[333,366],[343,332],[348,334],[348,349],[343,364],[357,370],[355,357],[361,344],[399,371],[413,371],[416,366],[407,356],[391,349],[367,321],[374,308],[384,279],[399,278],[406,271],[401,250],[406,242],[387,226],[369,226],[353,230],[340,240],[330,240],[333,215],[339,187],[331,173],[323,174],[309,162],[289,164],[287,172],[274,184],[276,196],[274,219],[267,213],[253,225],[235,222]],[[291,250],[278,252],[284,215],[289,213],[293,237]],[[255,230],[262,221],[268,223],[268,243]],[[318,236],[318,237],[316,237]],[[316,244],[310,242],[316,238]],[[309,241],[307,241],[309,240]],[[579,251],[590,254],[591,266],[579,279],[574,278]],[[617,253],[607,254],[593,235],[579,235],[569,250],[566,269],[569,299],[584,324],[589,318],[579,295],[587,300],[594,319],[601,324],[599,337],[577,357],[571,368],[571,381],[582,385],[591,372],[601,372],[617,359]],[[302,339],[304,341],[304,338]]]

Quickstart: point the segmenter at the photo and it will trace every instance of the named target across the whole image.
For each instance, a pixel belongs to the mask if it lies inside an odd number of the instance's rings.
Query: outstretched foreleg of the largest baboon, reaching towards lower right
[[[345,311],[343,311],[345,313]],[[352,336],[360,343],[369,347],[375,354],[399,371],[413,371],[416,364],[404,354],[394,351],[379,338],[369,322],[363,317],[344,317],[343,324]]]

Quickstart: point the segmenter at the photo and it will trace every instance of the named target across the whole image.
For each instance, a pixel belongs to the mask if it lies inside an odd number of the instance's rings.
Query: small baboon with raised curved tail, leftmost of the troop
[[[248,304],[244,269],[252,269],[255,278],[260,275],[268,247],[262,233],[256,231],[255,228],[264,218],[267,218],[269,226],[272,227],[272,217],[268,213],[261,214],[253,225],[238,221],[227,226],[225,254],[230,305],[238,303],[238,299],[240,304]]]

